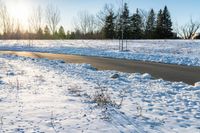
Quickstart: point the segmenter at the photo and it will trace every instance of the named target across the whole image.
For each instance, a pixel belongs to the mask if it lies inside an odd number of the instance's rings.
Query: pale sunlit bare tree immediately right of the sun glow
[[[42,8],[40,6],[33,10],[29,18],[29,23],[31,27],[33,27],[35,33],[42,27]]]

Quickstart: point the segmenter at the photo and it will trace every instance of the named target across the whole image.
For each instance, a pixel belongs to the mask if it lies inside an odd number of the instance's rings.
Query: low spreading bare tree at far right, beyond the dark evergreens
[[[184,26],[177,26],[176,32],[183,39],[192,39],[199,29],[200,23],[196,21],[194,22],[192,19],[190,19],[190,22]]]

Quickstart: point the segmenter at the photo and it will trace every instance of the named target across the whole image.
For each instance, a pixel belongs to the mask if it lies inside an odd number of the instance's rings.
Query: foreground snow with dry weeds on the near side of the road
[[[199,131],[199,86],[0,56],[0,132]]]

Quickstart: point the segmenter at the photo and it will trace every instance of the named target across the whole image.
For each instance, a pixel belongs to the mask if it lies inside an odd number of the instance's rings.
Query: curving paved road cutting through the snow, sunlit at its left
[[[130,61],[102,57],[88,57],[65,54],[50,54],[36,52],[1,51],[1,54],[14,54],[33,58],[60,59],[71,63],[88,63],[98,70],[117,70],[128,73],[149,73],[155,78],[169,81],[183,81],[194,85],[200,81],[200,67],[188,67],[152,62]]]

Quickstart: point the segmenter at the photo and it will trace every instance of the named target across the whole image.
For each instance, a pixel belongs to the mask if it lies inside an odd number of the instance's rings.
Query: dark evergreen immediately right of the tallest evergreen
[[[139,10],[136,10],[136,13],[131,17],[130,22],[131,29],[131,38],[132,39],[142,39],[143,31],[142,31],[142,17],[139,14]]]

